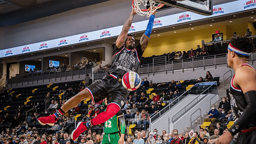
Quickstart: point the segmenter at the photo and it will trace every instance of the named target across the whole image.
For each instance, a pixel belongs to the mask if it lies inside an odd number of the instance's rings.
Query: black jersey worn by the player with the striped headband
[[[249,64],[245,63],[242,66],[250,66]],[[254,68],[253,68],[254,69]],[[254,69],[255,70],[255,69]],[[243,111],[245,107],[247,106],[247,102],[244,97],[244,93],[240,87],[235,87],[233,85],[233,79],[235,75],[233,76],[231,82],[230,82],[230,87],[229,87],[229,94],[230,94],[230,104],[231,104],[231,109],[232,109],[232,115],[234,122],[236,122],[239,117],[243,114]],[[255,124],[250,123],[250,127],[256,127]]]

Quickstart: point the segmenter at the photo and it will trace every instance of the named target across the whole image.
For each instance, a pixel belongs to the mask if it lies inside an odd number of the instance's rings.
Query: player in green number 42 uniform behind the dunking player
[[[107,104],[107,100],[105,100]],[[102,144],[123,144],[125,133],[125,120],[122,110],[107,120],[104,124],[104,136]]]

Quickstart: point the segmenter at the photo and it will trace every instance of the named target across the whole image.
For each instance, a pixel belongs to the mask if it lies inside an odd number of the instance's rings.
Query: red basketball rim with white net
[[[141,9],[140,6],[144,5],[147,7],[149,2],[149,8],[148,9]],[[153,0],[132,0],[132,8],[136,11],[138,15],[141,16],[147,16],[150,17],[150,15],[156,10],[161,7],[163,7],[164,4],[162,3],[157,3]]]

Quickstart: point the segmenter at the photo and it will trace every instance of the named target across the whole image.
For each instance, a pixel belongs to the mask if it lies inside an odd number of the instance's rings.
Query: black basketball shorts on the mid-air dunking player
[[[109,75],[97,80],[85,89],[90,91],[93,103],[107,98],[108,104],[116,103],[120,109],[129,96],[129,91],[123,87],[122,83]]]

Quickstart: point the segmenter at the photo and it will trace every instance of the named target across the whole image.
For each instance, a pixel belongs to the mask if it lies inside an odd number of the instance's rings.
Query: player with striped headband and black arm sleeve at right
[[[256,71],[248,58],[254,45],[250,38],[234,37],[228,46],[228,66],[235,70],[230,84],[234,125],[220,136],[218,144],[229,144],[238,133],[237,144],[256,142]]]

